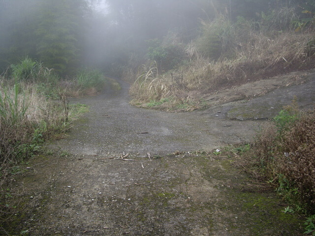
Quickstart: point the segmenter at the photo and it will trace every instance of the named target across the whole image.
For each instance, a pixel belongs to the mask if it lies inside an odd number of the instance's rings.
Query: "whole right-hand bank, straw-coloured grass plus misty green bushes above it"
[[[314,27],[309,22],[302,29],[296,22],[290,8],[274,11],[259,22],[242,17],[231,22],[218,16],[203,22],[201,35],[188,45],[173,42],[149,48],[149,57],[155,54],[151,58],[160,60],[125,73],[126,79],[136,78],[131,103],[189,111],[206,105],[203,95],[222,88],[313,68]]]

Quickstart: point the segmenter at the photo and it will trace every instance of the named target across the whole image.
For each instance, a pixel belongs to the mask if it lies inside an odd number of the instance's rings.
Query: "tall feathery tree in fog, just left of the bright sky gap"
[[[83,25],[84,0],[41,2],[37,55],[59,73],[71,72],[80,58],[80,27]]]

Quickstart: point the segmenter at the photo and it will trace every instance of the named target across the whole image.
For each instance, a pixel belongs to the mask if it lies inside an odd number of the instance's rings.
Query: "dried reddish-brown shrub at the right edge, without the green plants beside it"
[[[303,115],[284,133],[279,173],[292,182],[307,210],[315,213],[315,113]],[[282,154],[282,155],[281,155]]]

